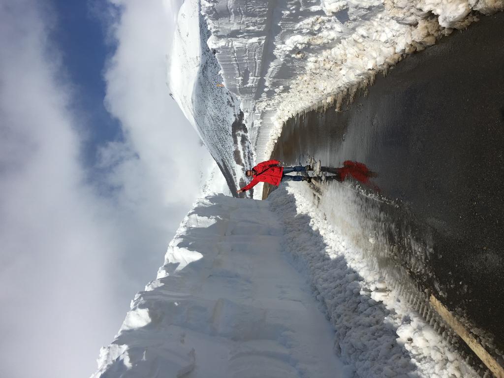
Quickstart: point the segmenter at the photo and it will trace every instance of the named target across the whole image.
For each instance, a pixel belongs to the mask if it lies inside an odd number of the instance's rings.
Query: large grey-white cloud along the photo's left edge
[[[71,94],[58,83],[42,10],[2,8],[0,375],[69,376],[89,371],[82,355],[113,336],[118,246],[83,184]]]

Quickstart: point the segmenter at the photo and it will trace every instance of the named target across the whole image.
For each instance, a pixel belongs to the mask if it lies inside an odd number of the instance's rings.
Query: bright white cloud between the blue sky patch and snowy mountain
[[[178,4],[166,0],[111,3],[120,6],[121,13],[108,25],[117,48],[105,70],[105,103],[119,119],[125,140],[109,144],[100,156],[111,169],[107,182],[119,187],[114,200],[122,211],[135,215],[123,218],[128,223],[123,227],[136,230],[130,242],[136,245],[131,248],[134,262],[135,249],[146,253],[164,249],[199,194],[202,160],[208,165],[212,158],[166,85]],[[152,239],[150,249],[145,249],[146,239]],[[145,256],[149,258],[153,263],[145,267],[152,272],[160,255]]]

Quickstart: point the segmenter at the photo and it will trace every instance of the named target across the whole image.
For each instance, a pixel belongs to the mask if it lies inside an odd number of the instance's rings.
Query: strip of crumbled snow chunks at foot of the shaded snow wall
[[[334,201],[317,203],[307,185],[294,184],[269,201],[284,219],[286,248],[326,307],[338,354],[358,376],[478,376],[338,228]]]

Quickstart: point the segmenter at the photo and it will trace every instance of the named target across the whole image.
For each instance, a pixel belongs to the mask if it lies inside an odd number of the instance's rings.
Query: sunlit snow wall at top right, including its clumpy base
[[[258,161],[288,118],[503,9],[504,0],[202,0]]]

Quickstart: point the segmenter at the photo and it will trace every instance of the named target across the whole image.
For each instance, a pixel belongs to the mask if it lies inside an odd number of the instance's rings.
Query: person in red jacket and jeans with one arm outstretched
[[[304,176],[289,176],[287,173],[291,172],[305,172],[312,171],[311,166],[306,165],[297,167],[281,167],[278,160],[268,160],[259,163],[252,169],[245,171],[248,177],[252,177],[252,181],[248,185],[243,186],[236,193],[242,193],[250,190],[260,182],[268,182],[272,185],[278,186],[281,181],[311,181],[310,177]]]

